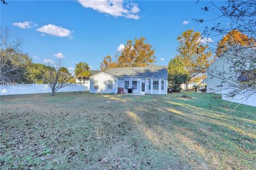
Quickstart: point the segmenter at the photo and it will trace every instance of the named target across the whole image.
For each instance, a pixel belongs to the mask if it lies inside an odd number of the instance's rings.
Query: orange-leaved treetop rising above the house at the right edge
[[[226,36],[219,41],[216,56],[220,57],[221,54],[226,52],[230,46],[241,45],[241,46],[251,46],[255,45],[255,40],[249,36],[243,34],[239,30],[232,30],[227,33]]]

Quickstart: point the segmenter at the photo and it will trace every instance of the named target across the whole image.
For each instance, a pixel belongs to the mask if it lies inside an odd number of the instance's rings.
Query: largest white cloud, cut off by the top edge
[[[124,16],[138,20],[140,12],[137,4],[124,0],[78,0],[78,2],[86,8],[92,8],[100,13],[109,14],[111,16]]]

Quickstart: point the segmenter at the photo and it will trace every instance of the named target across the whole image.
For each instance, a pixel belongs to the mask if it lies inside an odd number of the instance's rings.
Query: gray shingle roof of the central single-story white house
[[[167,78],[167,67],[157,65],[110,68],[105,72],[116,77]]]

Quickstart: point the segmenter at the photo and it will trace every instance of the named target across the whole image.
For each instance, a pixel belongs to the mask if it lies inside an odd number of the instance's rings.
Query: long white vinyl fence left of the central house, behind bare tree
[[[42,94],[52,92],[47,84],[30,84],[29,86],[0,86],[0,95],[19,95],[19,94]],[[57,92],[66,91],[89,91],[89,83],[70,84],[69,86],[59,89]]]

